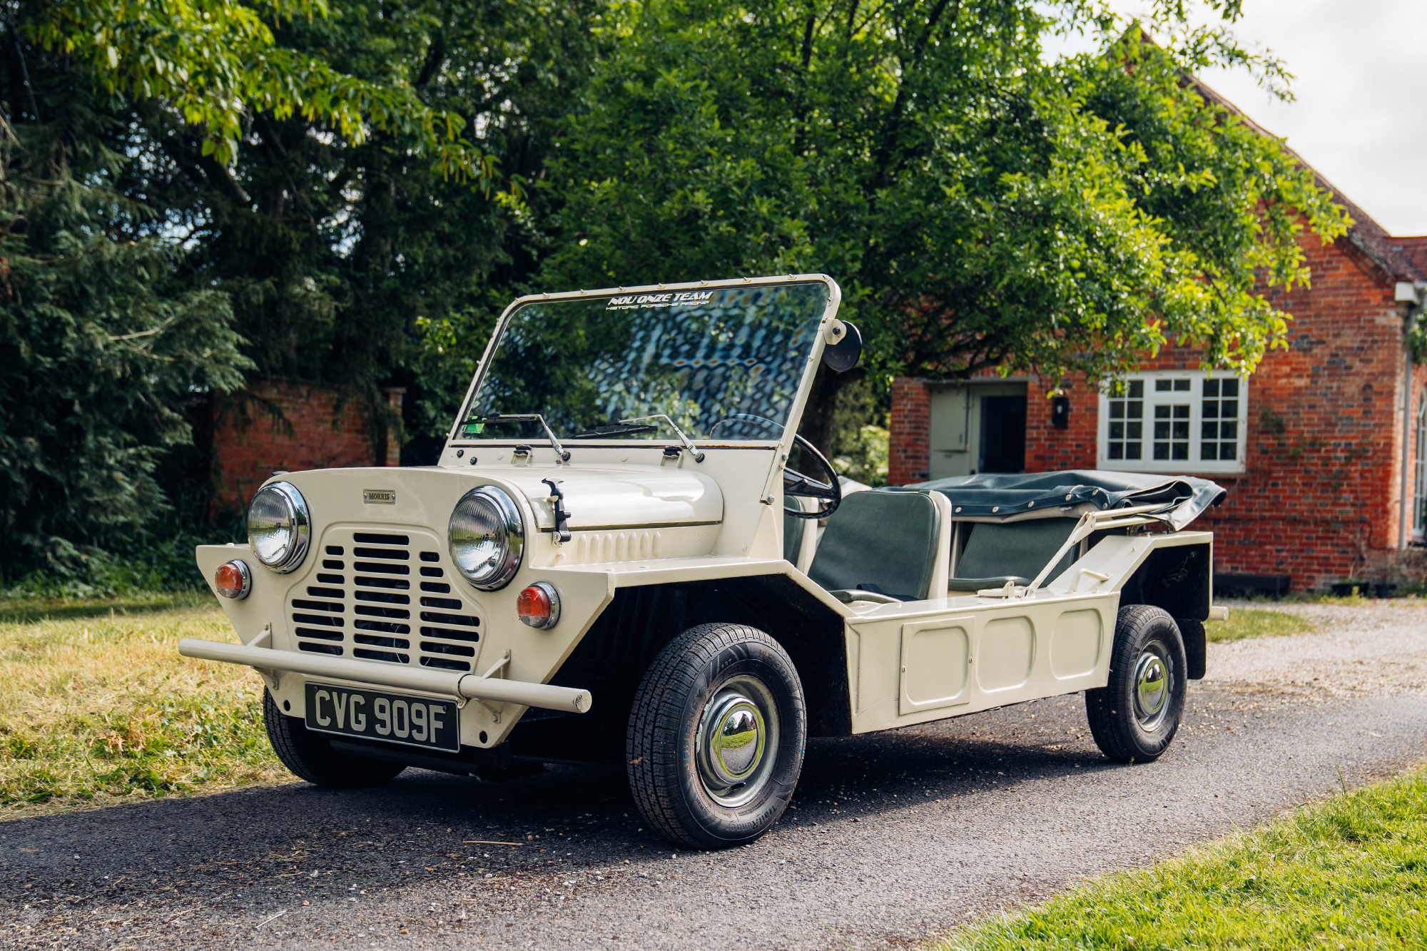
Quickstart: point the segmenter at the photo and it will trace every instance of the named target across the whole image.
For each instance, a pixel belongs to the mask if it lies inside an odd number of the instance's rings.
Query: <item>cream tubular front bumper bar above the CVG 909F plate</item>
[[[270,647],[244,647],[220,641],[198,641],[186,637],[178,641],[178,653],[184,657],[243,664],[260,670],[291,671],[308,677],[331,677],[351,680],[360,684],[392,687],[398,690],[421,690],[431,694],[450,694],[485,700],[498,704],[521,704],[544,710],[585,713],[592,703],[588,690],[531,684],[519,680],[479,677],[461,671],[440,671],[425,667],[398,664],[374,664],[371,661],[328,657],[325,654],[300,654],[297,651],[275,651]]]

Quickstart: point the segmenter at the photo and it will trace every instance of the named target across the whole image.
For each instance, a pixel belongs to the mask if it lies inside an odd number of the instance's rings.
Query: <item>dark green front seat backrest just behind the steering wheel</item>
[[[932,584],[939,528],[940,513],[925,493],[852,493],[828,520],[808,574],[828,591],[920,601]]]

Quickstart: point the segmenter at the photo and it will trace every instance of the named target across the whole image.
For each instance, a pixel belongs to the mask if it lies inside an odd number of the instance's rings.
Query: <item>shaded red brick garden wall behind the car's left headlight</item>
[[[402,393],[387,391],[397,413]],[[387,433],[374,437],[365,403],[331,387],[260,380],[214,416],[215,511],[245,508],[274,471],[398,464],[401,447]]]

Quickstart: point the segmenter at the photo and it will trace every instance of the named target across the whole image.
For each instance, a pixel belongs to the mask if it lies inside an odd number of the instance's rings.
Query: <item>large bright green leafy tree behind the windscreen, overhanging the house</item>
[[[1237,3],[1206,4],[1226,21]],[[1247,370],[1281,344],[1267,284],[1299,233],[1346,220],[1311,173],[1200,97],[1189,71],[1284,74],[1162,3],[1164,49],[1076,1],[646,0],[606,30],[561,140],[551,286],[826,271],[865,367],[1103,380],[1176,338]],[[1047,64],[1083,27],[1100,56]],[[852,374],[823,373],[825,443]]]

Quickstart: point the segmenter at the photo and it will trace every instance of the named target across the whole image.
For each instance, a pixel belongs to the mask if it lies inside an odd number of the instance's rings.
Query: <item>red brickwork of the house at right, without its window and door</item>
[[[1196,524],[1214,531],[1222,573],[1287,574],[1299,591],[1354,575],[1398,580],[1410,565],[1427,565],[1396,553],[1401,306],[1393,300],[1393,278],[1350,241],[1323,246],[1311,238],[1303,248],[1311,288],[1271,296],[1294,316],[1289,348],[1270,351],[1249,381],[1247,471],[1212,476],[1229,497]],[[1144,368],[1197,370],[1199,353],[1167,347]],[[1416,418],[1427,390],[1424,368],[1414,371],[1411,386]],[[1027,388],[1027,471],[1095,468],[1097,394],[1083,381],[1069,386],[1070,426],[1057,430],[1046,386],[1033,378]],[[899,377],[892,393],[889,477],[892,484],[916,481],[915,473],[928,468],[928,386]]]

